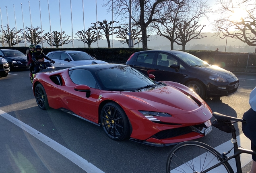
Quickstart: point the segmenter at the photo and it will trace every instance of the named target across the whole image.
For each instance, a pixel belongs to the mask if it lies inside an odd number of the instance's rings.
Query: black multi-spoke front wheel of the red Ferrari
[[[101,126],[107,136],[122,141],[130,136],[129,120],[124,110],[116,103],[107,103],[101,110]]]

